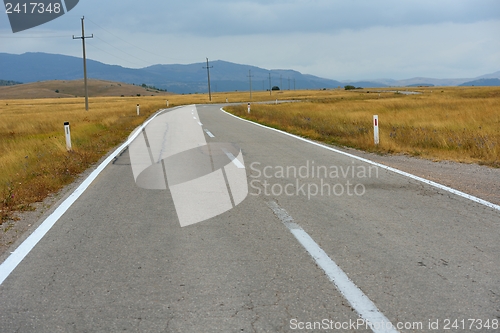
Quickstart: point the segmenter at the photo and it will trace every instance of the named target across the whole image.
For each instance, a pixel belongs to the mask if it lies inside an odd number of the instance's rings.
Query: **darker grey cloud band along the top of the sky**
[[[94,2],[87,0],[88,3]],[[110,26],[207,36],[322,32],[500,19],[496,0],[183,1],[111,0],[100,7]],[[106,14],[105,14],[106,13]]]

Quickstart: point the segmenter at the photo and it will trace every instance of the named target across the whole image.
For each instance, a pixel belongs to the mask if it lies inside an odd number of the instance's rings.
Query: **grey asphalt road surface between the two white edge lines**
[[[0,332],[371,332],[293,228],[400,332],[500,331],[498,210],[219,108],[246,199],[181,227],[124,150],[0,285]]]

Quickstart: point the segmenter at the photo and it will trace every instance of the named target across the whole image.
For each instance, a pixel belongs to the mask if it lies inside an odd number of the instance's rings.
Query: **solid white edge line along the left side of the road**
[[[109,155],[84,181],[78,188],[64,200],[52,214],[50,214],[42,224],[28,237],[19,247],[9,256],[5,261],[0,264],[0,285],[7,279],[7,277],[16,269],[17,265],[30,253],[36,244],[47,234],[47,232],[54,226],[54,224],[66,213],[66,211],[75,203],[76,200],[85,192],[85,190],[92,184],[92,182],[99,176],[99,174],[108,166],[113,159],[118,156],[128,145],[140,134],[142,130],[165,109],[158,110],[157,113],[149,120],[139,126],[129,136],[127,141],[118,147],[111,155]]]

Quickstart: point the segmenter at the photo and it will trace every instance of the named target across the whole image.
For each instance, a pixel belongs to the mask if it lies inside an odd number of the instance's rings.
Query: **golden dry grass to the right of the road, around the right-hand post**
[[[303,103],[254,105],[251,114],[246,106],[226,110],[335,145],[500,167],[499,87],[417,88],[419,95],[394,90],[316,92]]]

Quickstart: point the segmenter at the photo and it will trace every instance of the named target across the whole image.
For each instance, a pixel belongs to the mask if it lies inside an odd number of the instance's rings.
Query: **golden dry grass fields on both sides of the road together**
[[[118,86],[105,86],[111,84]],[[109,93],[104,90],[93,93]],[[60,98],[61,91],[59,98],[6,99],[0,90],[0,224],[12,218],[12,212],[29,210],[31,204],[72,182],[149,115],[165,108],[166,100],[171,107],[208,102],[207,94],[121,97],[125,95],[121,90],[117,97],[91,97],[87,112],[83,98]],[[388,89],[253,92],[252,102],[302,102],[253,104],[250,115],[248,92],[215,93],[212,102],[245,102],[226,109],[327,143],[500,166],[500,88],[418,91],[422,94],[407,96]],[[373,144],[373,114],[380,118],[378,147]],[[72,152],[66,151],[65,121],[71,123]]]

